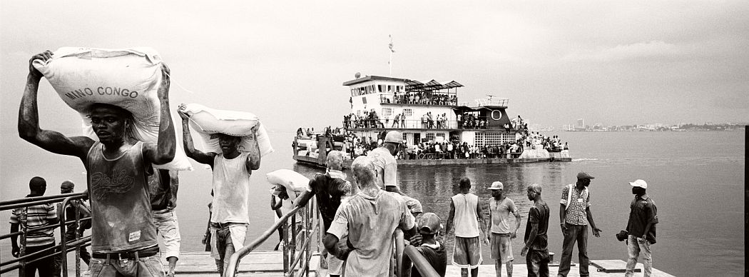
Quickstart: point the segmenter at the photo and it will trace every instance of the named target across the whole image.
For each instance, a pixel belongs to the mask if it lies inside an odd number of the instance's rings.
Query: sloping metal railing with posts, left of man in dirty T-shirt
[[[315,250],[319,252],[322,240],[320,210],[317,208],[315,198],[310,199],[303,207],[294,207],[293,210],[281,216],[270,228],[267,228],[260,237],[252,240],[252,243],[231,255],[228,267],[224,270],[224,277],[233,277],[237,273],[237,267],[242,258],[261,246],[273,234],[276,234],[279,228],[282,230],[283,237],[284,276],[309,276],[312,248],[316,247]]]

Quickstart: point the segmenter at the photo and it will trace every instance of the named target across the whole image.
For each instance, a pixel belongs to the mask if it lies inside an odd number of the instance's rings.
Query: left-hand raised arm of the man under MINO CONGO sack
[[[77,156],[84,160],[88,149],[94,145],[94,140],[85,136],[67,137],[61,133],[42,130],[39,127],[39,108],[37,106],[37,92],[42,73],[31,64],[34,60],[46,61],[52,58],[52,52],[34,55],[28,61],[28,77],[23,91],[21,106],[18,111],[18,135],[31,144],[42,147],[52,153],[67,156]]]

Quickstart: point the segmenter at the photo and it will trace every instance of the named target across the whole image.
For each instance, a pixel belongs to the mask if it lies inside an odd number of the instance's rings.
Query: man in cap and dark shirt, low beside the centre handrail
[[[440,232],[442,223],[440,217],[434,213],[424,213],[419,220],[416,221],[416,228],[419,229],[419,236],[411,237],[410,243],[412,246],[416,246],[422,256],[429,262],[432,268],[437,271],[440,276],[445,276],[447,270],[447,252],[445,246],[434,240],[434,237]],[[420,242],[419,242],[420,240]],[[420,244],[420,245],[419,245]],[[403,255],[404,260],[408,258],[408,255]],[[406,264],[407,262],[404,262]],[[411,268],[411,277],[421,277],[421,273],[416,267]]]

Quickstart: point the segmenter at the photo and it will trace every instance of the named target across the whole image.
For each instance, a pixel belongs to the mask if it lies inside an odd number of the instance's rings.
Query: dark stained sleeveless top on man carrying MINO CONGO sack
[[[114,159],[107,159],[102,148],[97,141],[86,156],[91,249],[122,252],[157,245],[146,176],[151,165],[143,161],[143,143]]]

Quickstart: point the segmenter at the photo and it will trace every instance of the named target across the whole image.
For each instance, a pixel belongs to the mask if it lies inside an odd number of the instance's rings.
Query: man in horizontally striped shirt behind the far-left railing
[[[33,177],[28,182],[28,189],[31,193],[26,197],[38,197],[44,195],[46,191],[46,180],[42,177]],[[40,228],[55,225],[58,223],[57,213],[55,212],[55,206],[53,204],[40,204],[37,206],[22,207],[13,210],[10,215],[10,232],[15,233],[19,231],[19,225],[24,227],[24,230],[31,228]],[[21,237],[21,246],[23,252],[18,246],[18,236],[10,238],[12,243],[13,257],[18,258],[21,253],[28,255],[43,249],[48,249],[55,246],[55,237],[52,233],[53,228],[46,228],[39,231],[31,231]],[[44,252],[43,255],[49,255],[54,249],[49,249]],[[43,258],[39,261],[35,261],[30,264],[25,264],[25,267],[21,269],[21,276],[36,276],[37,270],[39,276],[59,276],[60,269],[58,263],[55,261],[55,256]]]

